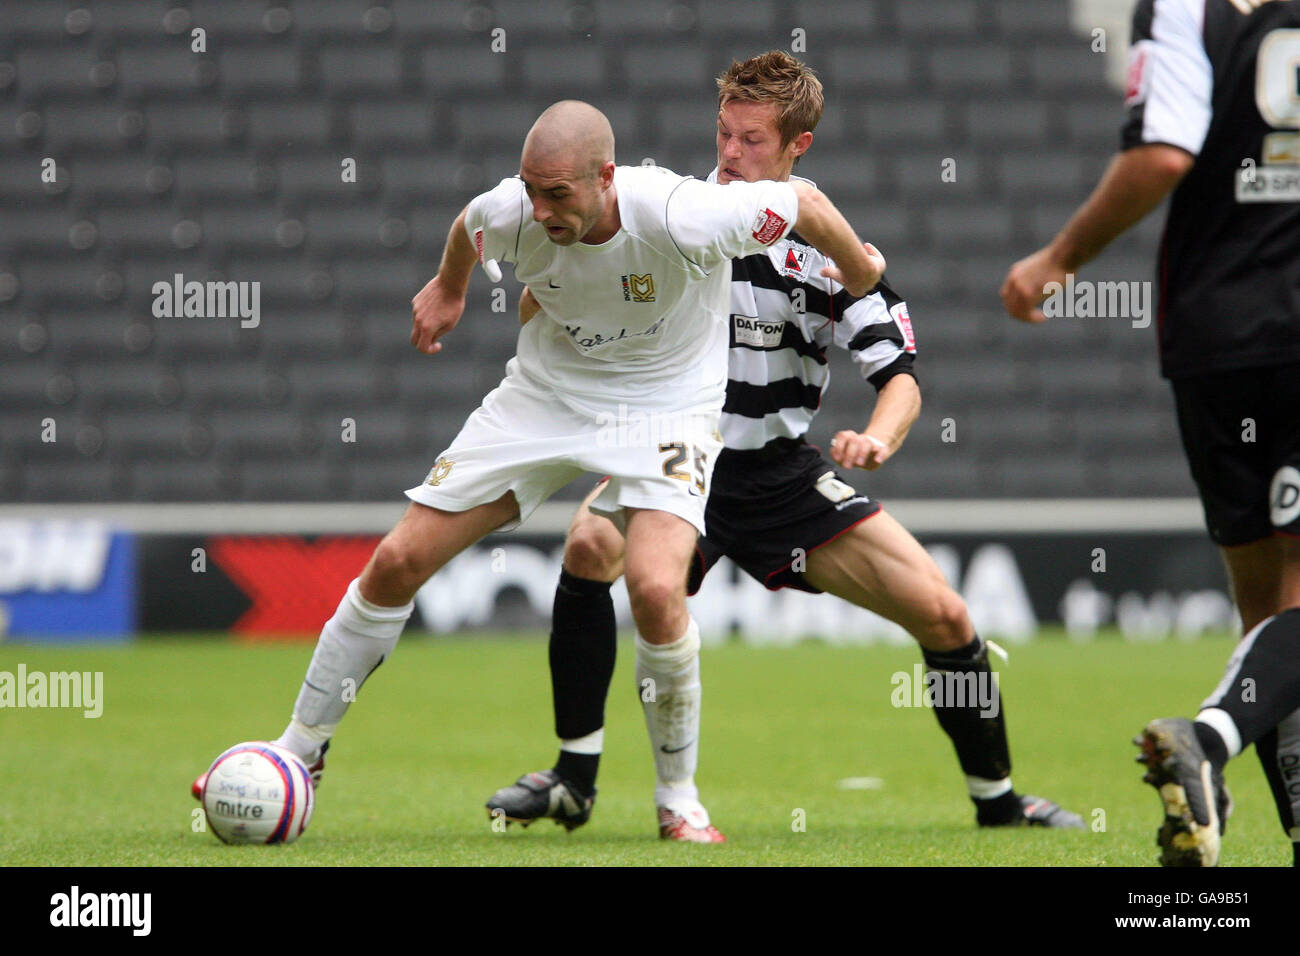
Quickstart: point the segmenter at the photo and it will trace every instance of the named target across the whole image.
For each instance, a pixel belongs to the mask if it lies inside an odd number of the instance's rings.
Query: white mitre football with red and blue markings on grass
[[[316,790],[296,754],[252,740],[212,761],[200,800],[222,843],[292,843],[312,819]]]

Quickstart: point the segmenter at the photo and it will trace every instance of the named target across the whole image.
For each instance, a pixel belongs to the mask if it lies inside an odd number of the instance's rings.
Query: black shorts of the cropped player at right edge
[[[1174,378],[1173,386],[1214,542],[1300,535],[1300,364]]]

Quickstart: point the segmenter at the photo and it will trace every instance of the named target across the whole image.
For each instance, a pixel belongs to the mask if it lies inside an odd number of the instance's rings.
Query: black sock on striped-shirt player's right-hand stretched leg
[[[1011,752],[1006,744],[1002,693],[993,679],[993,669],[988,666],[985,643],[976,635],[965,648],[944,653],[922,648],[922,656],[926,659],[927,687],[930,674],[937,672],[944,678],[944,693],[936,700],[936,705],[942,706],[935,706],[935,717],[952,739],[962,771],[985,780],[1010,777]],[[967,674],[974,676],[961,676]],[[954,680],[962,682],[959,689],[963,692],[956,700],[946,691]],[[989,704],[987,708],[979,701],[982,693]],[[965,706],[956,706],[958,702]]]

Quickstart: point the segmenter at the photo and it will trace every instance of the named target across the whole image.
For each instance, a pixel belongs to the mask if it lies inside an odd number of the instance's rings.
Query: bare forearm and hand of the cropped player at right
[[[1065,229],[1006,273],[1002,304],[1008,313],[1024,323],[1046,321],[1039,308],[1046,298],[1046,286],[1065,284],[1066,273],[1096,259],[1141,221],[1173,193],[1195,161],[1190,152],[1164,143],[1138,146],[1112,159],[1097,187]]]

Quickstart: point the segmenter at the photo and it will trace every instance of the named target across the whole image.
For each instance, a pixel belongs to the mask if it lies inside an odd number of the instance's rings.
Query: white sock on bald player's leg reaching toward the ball
[[[360,579],[347,585],[334,617],[325,622],[307,678],[294,704],[294,719],[274,743],[302,758],[334,735],[361,684],[396,646],[415,609],[381,607],[361,597]]]

